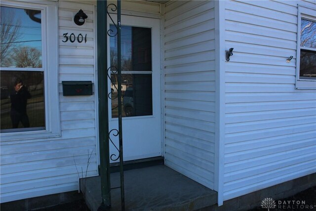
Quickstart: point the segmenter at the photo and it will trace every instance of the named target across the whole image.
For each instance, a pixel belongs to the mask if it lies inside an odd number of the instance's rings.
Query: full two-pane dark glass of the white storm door
[[[110,25],[114,35],[115,26]],[[122,117],[153,115],[151,28],[121,27]],[[116,67],[117,36],[110,38],[111,66]],[[117,74],[111,74],[112,118],[118,117]]]

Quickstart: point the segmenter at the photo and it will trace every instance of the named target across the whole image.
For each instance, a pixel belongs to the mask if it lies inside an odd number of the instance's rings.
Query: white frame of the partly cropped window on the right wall
[[[316,51],[314,48],[301,47],[301,18],[316,22],[315,10],[298,5],[297,15],[297,50],[296,50],[296,89],[316,89],[316,80],[300,79],[300,54],[301,48]]]

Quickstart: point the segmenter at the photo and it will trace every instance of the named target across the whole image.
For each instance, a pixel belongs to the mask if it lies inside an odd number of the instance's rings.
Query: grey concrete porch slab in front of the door
[[[126,170],[124,183],[126,211],[194,211],[217,203],[217,192],[164,165]],[[111,173],[111,185],[119,186],[119,172]],[[86,204],[97,211],[100,176],[87,178],[85,188]],[[120,211],[120,190],[113,189],[111,197],[111,211]]]

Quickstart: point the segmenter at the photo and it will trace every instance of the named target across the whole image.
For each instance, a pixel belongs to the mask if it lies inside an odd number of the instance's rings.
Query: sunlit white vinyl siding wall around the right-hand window
[[[297,4],[316,13],[315,0],[225,1],[224,200],[316,172],[316,93],[295,89]]]

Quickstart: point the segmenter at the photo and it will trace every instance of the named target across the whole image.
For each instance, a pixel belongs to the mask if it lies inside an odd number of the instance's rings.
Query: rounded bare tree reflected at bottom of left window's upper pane
[[[40,50],[24,46],[14,48],[12,52],[16,67],[41,67]]]

